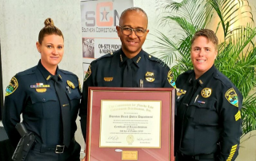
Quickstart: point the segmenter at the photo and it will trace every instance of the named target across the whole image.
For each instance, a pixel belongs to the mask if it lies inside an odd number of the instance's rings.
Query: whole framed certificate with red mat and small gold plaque
[[[90,87],[87,161],[174,161],[174,88]]]

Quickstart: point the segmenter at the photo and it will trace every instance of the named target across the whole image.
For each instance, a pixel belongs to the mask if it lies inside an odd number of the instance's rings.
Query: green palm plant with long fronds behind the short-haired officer
[[[166,35],[158,31],[154,35],[156,45],[152,47],[158,50],[152,54],[167,65],[173,65],[174,77],[178,77],[186,70],[193,69],[190,40],[194,33],[202,28],[214,30],[221,41],[215,66],[242,92],[243,135],[255,130],[256,92],[253,92],[253,88],[256,87],[256,28],[252,25],[254,20],[248,2],[183,0],[178,3],[166,0],[158,1],[158,5],[163,8],[160,25],[175,23],[177,27],[172,30],[178,29],[179,32]]]

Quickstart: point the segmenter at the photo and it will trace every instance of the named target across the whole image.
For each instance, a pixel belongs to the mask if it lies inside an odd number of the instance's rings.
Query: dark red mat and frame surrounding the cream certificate
[[[142,94],[143,95],[139,95]],[[156,95],[158,94],[158,95]],[[100,120],[98,120],[97,115],[98,112],[100,112],[101,107],[94,105],[94,104],[101,104],[100,100],[112,100],[113,96],[114,96],[114,100],[118,100],[120,97],[120,100],[124,100],[124,98],[126,98],[126,100],[134,100],[134,97],[136,97],[135,100],[144,100],[145,96],[149,96],[150,98],[154,98],[154,100],[162,100],[162,102],[165,102],[167,104],[170,104],[170,108],[167,110],[168,112],[170,112],[169,115],[169,123],[168,123],[168,128],[169,128],[169,134],[166,134],[169,138],[168,138],[168,142],[167,144],[169,144],[169,149],[168,149],[168,158],[169,159],[165,159],[168,161],[174,161],[174,98],[175,98],[175,92],[174,92],[174,88],[107,88],[107,87],[89,87],[88,90],[88,108],[87,108],[87,127],[86,127],[86,131],[87,131],[87,135],[86,135],[86,160],[87,161],[93,161],[93,160],[111,160],[111,161],[121,161],[122,160],[122,156],[121,156],[121,152],[118,153],[114,153],[114,149],[119,149],[118,147],[107,147],[107,148],[102,148],[97,146],[97,141],[98,140],[98,132],[100,129],[98,129],[98,123]],[[112,96],[112,97],[111,97]],[[124,97],[126,96],[126,97]],[[142,96],[143,98],[140,99],[139,97]],[[166,96],[168,97],[166,99]],[[169,100],[168,100],[169,99]],[[162,111],[163,112],[163,111]],[[93,120],[93,119],[97,119],[97,120]],[[162,121],[163,122],[163,121]],[[162,125],[163,126],[163,125]],[[98,130],[98,132],[97,132]],[[93,134],[92,134],[93,131]],[[95,132],[96,131],[96,132]],[[162,131],[163,132],[163,131]],[[161,132],[161,133],[162,133]],[[162,143],[164,143],[164,139],[161,139]],[[162,144],[161,143],[161,144]],[[167,146],[168,148],[168,146]],[[164,149],[166,149],[166,147],[162,146],[161,149],[158,149],[161,153],[161,151],[164,151]],[[159,153],[159,151],[157,153],[154,153],[154,150],[156,149],[143,149],[143,148],[122,148],[122,151],[138,151],[138,160],[149,160],[148,155],[151,154],[151,157],[153,157],[154,160],[154,155],[157,155]],[[91,151],[94,151],[93,154],[91,155]],[[97,157],[101,156],[104,157],[102,159],[94,159],[94,156],[96,154],[97,151]],[[111,152],[110,152],[111,151]],[[114,152],[112,152],[114,151]],[[166,150],[165,150],[166,152]],[[106,154],[107,155],[106,155]],[[114,156],[111,157],[111,154]],[[152,155],[154,154],[154,155]],[[166,157],[166,153],[165,157]],[[118,156],[117,156],[118,155]],[[119,157],[120,155],[120,157]],[[160,155],[159,155],[160,156]],[[118,158],[118,159],[117,159]],[[167,157],[166,157],[167,158]],[[150,158],[152,160],[152,158]],[[158,159],[156,159],[158,160]],[[165,161],[162,160],[162,161]]]

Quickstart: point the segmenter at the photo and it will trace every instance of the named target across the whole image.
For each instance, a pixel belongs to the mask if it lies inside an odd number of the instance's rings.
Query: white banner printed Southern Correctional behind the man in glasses
[[[121,48],[115,26],[119,25],[122,11],[131,6],[133,0],[81,2],[84,75],[91,61]]]

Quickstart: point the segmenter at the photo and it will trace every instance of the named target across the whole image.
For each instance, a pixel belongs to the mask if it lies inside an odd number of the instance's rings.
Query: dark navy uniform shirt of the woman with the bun
[[[77,129],[75,120],[78,116],[79,100],[81,98],[78,77],[73,73],[58,68],[56,74],[61,80],[62,87],[65,88],[71,104],[70,137],[72,139]],[[6,88],[2,121],[14,146],[18,144],[20,139],[15,125],[20,122],[21,113],[23,124],[25,124],[27,131],[34,132],[39,143],[46,145],[60,143],[60,138],[62,137],[62,132],[60,131],[62,126],[61,109],[54,88],[54,81],[51,77],[52,75],[39,61],[37,66],[16,74]],[[71,88],[67,81],[74,84],[74,88]],[[33,86],[40,85],[39,83],[45,85],[45,87]]]

